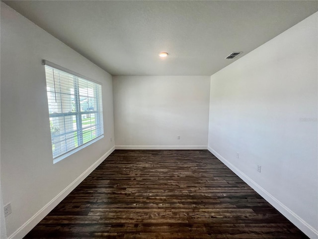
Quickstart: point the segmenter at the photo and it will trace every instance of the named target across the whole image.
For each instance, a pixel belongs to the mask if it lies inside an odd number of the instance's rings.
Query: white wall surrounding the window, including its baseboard
[[[105,137],[56,164],[42,59],[103,83]],[[32,229],[101,162],[113,135],[112,77],[1,2],[1,189],[4,205],[12,207],[7,235],[21,238]]]

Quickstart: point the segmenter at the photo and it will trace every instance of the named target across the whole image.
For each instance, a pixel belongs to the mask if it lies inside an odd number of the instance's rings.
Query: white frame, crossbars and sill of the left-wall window
[[[53,69],[57,69],[59,71],[62,71],[62,72],[65,72],[67,74],[70,74],[74,77],[74,95],[75,95],[75,106],[76,106],[76,111],[75,112],[62,112],[62,113],[49,113],[49,122],[51,121],[52,118],[59,118],[59,117],[67,117],[67,116],[75,116],[76,118],[76,124],[77,124],[77,127],[76,129],[74,129],[74,132],[77,132],[77,140],[78,140],[78,146],[76,146],[75,148],[72,148],[70,150],[67,150],[66,148],[66,152],[62,153],[62,154],[59,154],[57,156],[54,156],[54,153],[53,153],[53,139],[54,137],[56,137],[56,135],[53,135],[52,132],[51,132],[51,149],[52,149],[52,157],[53,157],[53,163],[57,163],[59,161],[61,161],[62,159],[70,156],[71,154],[81,150],[82,148],[98,141],[99,139],[103,138],[104,137],[104,130],[103,130],[103,109],[102,109],[102,83],[98,82],[98,81],[95,81],[95,80],[92,80],[88,77],[85,77],[85,76],[82,76],[74,71],[71,71],[69,69],[66,69],[64,67],[61,67],[59,65],[56,65],[52,62],[49,62],[47,60],[42,60],[42,65],[45,65],[45,66],[49,66]],[[54,74],[54,72],[53,72]],[[46,82],[46,85],[47,85],[47,76],[46,76],[46,70],[45,70],[45,82]],[[98,94],[98,90],[97,88],[94,89],[94,91],[96,91],[94,93],[94,96],[96,95],[96,109],[97,110],[93,110],[93,111],[90,111],[89,108],[88,108],[88,111],[81,111],[80,108],[79,108],[79,105],[80,105],[80,94],[79,94],[79,80],[85,80],[85,81],[88,81],[88,82],[91,82],[91,83],[94,83],[94,84],[97,84],[97,85],[100,85],[101,89],[100,89],[100,93],[101,95],[99,96]],[[49,93],[48,89],[46,88],[46,92]],[[47,96],[48,97],[48,96]],[[100,98],[100,102],[99,102],[99,98]],[[47,103],[48,103],[48,110],[49,110],[49,99],[47,98]],[[101,106],[99,106],[99,104],[101,104]],[[88,142],[85,142],[83,141],[83,130],[91,127],[90,126],[83,126],[82,124],[82,115],[87,115],[88,114],[94,114],[95,115],[95,130],[97,133],[97,137],[89,140]],[[97,117],[96,117],[97,116]],[[101,120],[101,121],[100,121]],[[92,130],[91,130],[92,131]],[[61,133],[59,134],[59,136],[63,135],[63,134],[68,134],[68,133],[72,133],[72,131],[67,131],[67,132],[64,132],[64,133]],[[80,136],[79,136],[80,135]],[[72,138],[76,138],[76,137],[72,137]],[[63,141],[63,140],[62,140]],[[68,144],[66,144],[67,146]]]

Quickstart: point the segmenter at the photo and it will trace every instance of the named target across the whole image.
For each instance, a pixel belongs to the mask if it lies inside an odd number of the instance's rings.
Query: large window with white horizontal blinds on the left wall
[[[59,158],[59,161],[67,152],[72,150],[73,153],[74,149],[82,148],[81,145],[88,145],[102,137],[101,85],[53,63],[43,61],[43,64],[52,152],[53,158]]]

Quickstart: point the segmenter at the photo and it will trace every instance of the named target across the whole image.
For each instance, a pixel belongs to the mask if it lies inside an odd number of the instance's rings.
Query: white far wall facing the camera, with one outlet
[[[209,76],[113,77],[116,148],[206,148],[209,89]]]

